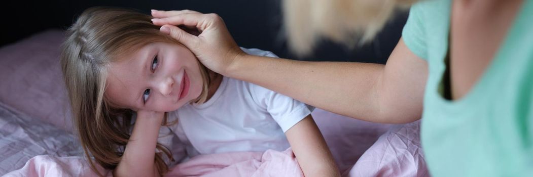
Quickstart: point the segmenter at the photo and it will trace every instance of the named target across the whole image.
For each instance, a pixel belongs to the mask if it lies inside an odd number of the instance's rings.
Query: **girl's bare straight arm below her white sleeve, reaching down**
[[[285,135],[304,176],[341,176],[311,114],[287,130]]]

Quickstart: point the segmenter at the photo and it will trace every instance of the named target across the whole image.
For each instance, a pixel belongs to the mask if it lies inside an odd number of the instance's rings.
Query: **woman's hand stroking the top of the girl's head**
[[[235,58],[246,55],[231,37],[224,21],[217,14],[202,14],[196,11],[156,11],[152,10],[154,24],[160,31],[188,47],[198,60],[214,72],[227,74],[235,63]],[[197,36],[185,32],[197,30]]]

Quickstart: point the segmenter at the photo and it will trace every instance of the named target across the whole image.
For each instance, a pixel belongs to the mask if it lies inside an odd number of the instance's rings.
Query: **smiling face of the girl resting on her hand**
[[[105,94],[119,107],[171,112],[203,88],[197,59],[182,45],[150,43],[118,59],[110,65]]]

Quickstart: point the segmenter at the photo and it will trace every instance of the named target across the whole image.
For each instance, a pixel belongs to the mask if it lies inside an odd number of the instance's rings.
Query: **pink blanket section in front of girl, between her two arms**
[[[166,176],[303,176],[292,150],[205,154],[181,163]]]

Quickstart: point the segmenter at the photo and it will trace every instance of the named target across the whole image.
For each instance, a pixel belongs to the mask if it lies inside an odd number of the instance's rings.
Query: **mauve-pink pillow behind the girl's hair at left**
[[[59,65],[61,30],[47,30],[0,48],[0,102],[58,128],[72,131]]]

